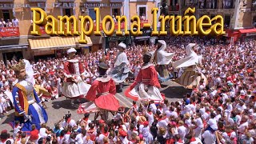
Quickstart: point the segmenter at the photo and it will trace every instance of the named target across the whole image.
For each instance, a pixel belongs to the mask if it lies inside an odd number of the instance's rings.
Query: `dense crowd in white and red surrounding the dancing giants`
[[[256,142],[256,66],[254,40],[225,44],[217,39],[196,37],[166,37],[166,52],[174,53],[172,61],[186,57],[185,46],[197,43],[195,52],[202,54],[202,73],[208,83],[193,86],[191,94],[185,94],[179,102],[155,104],[138,103],[125,111],[122,107],[113,119],[93,122],[90,114],[80,120],[66,114],[63,122],[54,127],[43,124],[40,130],[32,126],[30,134],[22,132],[20,123],[15,122],[14,134],[2,130],[0,143],[242,143]],[[156,46],[130,46],[126,49],[130,70],[136,78],[142,66],[143,50],[154,51]],[[77,55],[88,73],[83,80],[89,84],[98,78],[99,62],[113,67],[118,50],[98,50],[96,53]],[[66,58],[49,58],[31,62],[35,83],[52,94],[61,96],[64,80],[63,67]],[[1,63],[0,70],[0,116],[4,117],[12,107],[11,90],[14,71],[10,65],[15,60]],[[174,78],[182,69],[168,66]],[[166,94],[166,98],[171,98]]]

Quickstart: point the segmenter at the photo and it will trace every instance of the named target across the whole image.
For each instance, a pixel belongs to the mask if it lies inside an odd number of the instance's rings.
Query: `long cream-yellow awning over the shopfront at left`
[[[50,38],[35,38],[29,39],[32,50],[44,49],[55,50],[58,48],[67,48],[71,46],[92,46],[90,37],[86,37],[87,44],[80,44],[77,37],[50,37]]]

